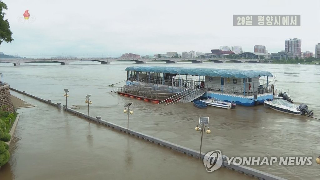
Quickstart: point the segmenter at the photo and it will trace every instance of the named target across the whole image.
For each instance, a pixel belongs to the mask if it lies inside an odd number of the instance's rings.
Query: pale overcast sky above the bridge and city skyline
[[[220,45],[246,52],[266,45],[276,53],[289,38],[300,38],[302,51],[314,53],[320,42],[319,0],[3,1],[14,41],[0,51],[10,55],[209,53]],[[21,23],[25,10],[30,20]],[[233,14],[300,14],[301,26],[233,26]]]

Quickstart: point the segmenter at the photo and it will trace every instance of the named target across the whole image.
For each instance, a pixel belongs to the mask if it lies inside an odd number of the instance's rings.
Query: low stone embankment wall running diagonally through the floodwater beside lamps
[[[61,109],[60,103],[53,103],[51,101],[36,97],[34,95],[31,95],[31,94],[28,94],[25,91],[19,91],[19,90],[13,89],[13,88],[10,88],[10,89],[12,91],[27,95],[29,97],[35,98],[36,100],[39,100],[41,102],[44,102],[44,103],[50,104],[52,106],[55,106],[58,109]],[[172,149],[174,151],[178,151],[178,152],[184,153],[184,154],[186,154],[188,156],[199,158],[199,151],[192,150],[190,148],[183,147],[183,146],[180,146],[178,144],[174,144],[174,143],[171,143],[171,142],[168,142],[168,141],[165,141],[165,140],[153,137],[153,136],[149,136],[149,135],[137,132],[137,131],[133,131],[133,130],[130,130],[130,129],[129,129],[129,131],[127,131],[126,127],[118,126],[118,125],[116,125],[116,124],[114,124],[112,122],[108,122],[106,120],[103,120],[99,116],[96,116],[96,117],[88,116],[88,115],[86,115],[86,114],[84,114],[82,112],[73,110],[73,109],[68,108],[66,106],[63,106],[63,110],[66,111],[66,112],[75,114],[75,115],[77,115],[77,116],[79,116],[81,118],[84,118],[84,119],[87,119],[87,120],[89,119],[90,121],[96,122],[97,124],[105,125],[105,126],[107,126],[109,128],[112,128],[114,130],[118,130],[118,132],[120,132],[120,133],[128,133],[129,135],[131,135],[133,137],[136,137],[136,138],[139,138],[139,139],[142,139],[142,140],[147,140],[148,142],[155,143],[157,145]],[[205,153],[201,153],[201,155],[200,155],[201,159],[203,159],[204,156],[205,156]],[[259,170],[253,169],[253,168],[249,168],[249,167],[242,166],[242,165],[237,165],[236,166],[232,162],[231,162],[230,165],[228,165],[228,161],[226,160],[227,156],[223,155],[222,157],[223,157],[223,167],[231,169],[231,170],[234,170],[234,171],[237,171],[237,172],[239,172],[241,174],[245,174],[245,175],[248,175],[248,176],[251,176],[251,177],[255,177],[255,178],[258,178],[260,180],[269,180],[269,179],[270,180],[285,180],[284,178],[281,178],[281,177],[278,177],[278,176],[274,176],[274,175],[271,175],[271,174],[268,174],[268,173],[264,173],[262,171],[259,171]],[[205,168],[205,167],[203,167],[203,168]]]

